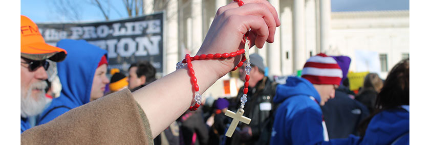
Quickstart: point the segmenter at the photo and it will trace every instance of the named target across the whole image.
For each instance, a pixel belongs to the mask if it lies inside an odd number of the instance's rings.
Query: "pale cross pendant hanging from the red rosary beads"
[[[238,126],[239,122],[243,122],[249,125],[249,123],[251,122],[251,119],[245,116],[242,116],[244,112],[245,110],[243,109],[239,109],[236,113],[230,110],[227,110],[227,112],[225,112],[226,116],[233,118],[233,121],[231,122],[230,127],[228,127],[228,130],[225,133],[225,136],[231,137],[231,135],[233,135],[234,130],[236,129],[236,126]]]

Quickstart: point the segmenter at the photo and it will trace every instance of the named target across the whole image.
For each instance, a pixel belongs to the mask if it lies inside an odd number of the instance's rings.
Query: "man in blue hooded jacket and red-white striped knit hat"
[[[271,144],[320,144],[328,140],[320,106],[334,98],[342,78],[336,60],[325,54],[309,58],[302,78],[289,77],[278,85]]]

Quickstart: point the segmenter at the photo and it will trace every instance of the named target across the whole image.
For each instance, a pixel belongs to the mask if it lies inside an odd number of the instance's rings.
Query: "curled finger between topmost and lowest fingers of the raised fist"
[[[274,34],[276,30],[276,21],[273,17],[272,13],[265,8],[264,4],[261,3],[251,3],[244,5],[239,8],[229,9],[224,12],[225,15],[255,15],[263,17],[263,19],[266,22],[266,25],[269,27],[269,37],[267,39],[267,42],[272,43],[274,40]]]

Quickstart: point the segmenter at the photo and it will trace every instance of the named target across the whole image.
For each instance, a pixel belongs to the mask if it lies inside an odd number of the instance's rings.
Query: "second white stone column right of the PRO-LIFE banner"
[[[192,18],[192,41],[191,41],[191,56],[196,55],[203,42],[203,12],[202,0],[192,0],[191,2],[191,18]]]

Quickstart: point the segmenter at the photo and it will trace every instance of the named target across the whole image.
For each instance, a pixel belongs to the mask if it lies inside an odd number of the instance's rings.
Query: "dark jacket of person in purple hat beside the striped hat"
[[[341,91],[341,87],[336,89],[334,99],[321,107],[330,139],[347,138],[350,134],[358,135],[359,123],[369,116],[369,110]]]

